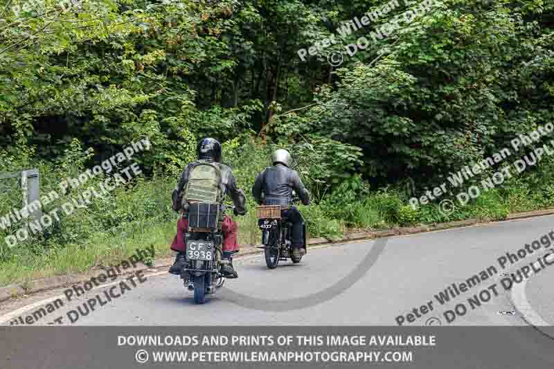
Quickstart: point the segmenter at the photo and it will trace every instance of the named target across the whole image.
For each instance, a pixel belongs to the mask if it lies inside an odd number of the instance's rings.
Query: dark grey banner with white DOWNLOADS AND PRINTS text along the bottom
[[[533,327],[0,327],[0,368],[553,368]]]

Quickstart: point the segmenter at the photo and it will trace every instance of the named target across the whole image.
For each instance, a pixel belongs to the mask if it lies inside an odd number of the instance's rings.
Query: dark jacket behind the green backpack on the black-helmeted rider
[[[186,183],[188,183],[188,173],[190,172],[190,168],[194,163],[190,163],[187,165],[183,173],[181,174],[181,178],[179,178],[179,182],[177,182],[177,188],[173,190],[172,193],[172,201],[173,201],[173,210],[175,211],[181,211],[181,201],[183,199],[183,191],[186,187]],[[227,165],[222,163],[215,163],[220,170],[222,174],[222,192],[226,195],[229,195],[231,199],[233,200],[233,204],[235,205],[236,212],[240,215],[244,215],[247,213],[247,199],[244,196],[244,191],[241,188],[237,187],[237,181],[235,179],[235,175],[233,174],[233,170],[229,168]]]

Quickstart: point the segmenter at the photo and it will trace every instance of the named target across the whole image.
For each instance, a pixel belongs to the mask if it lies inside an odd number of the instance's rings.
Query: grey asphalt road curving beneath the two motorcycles
[[[226,289],[208,298],[205,305],[193,303],[192,293],[177,276],[151,271],[146,273],[145,282],[135,278],[136,287],[132,287],[127,281],[131,288],[122,296],[104,306],[96,305],[86,316],[79,314],[73,325],[397,325],[398,316],[403,316],[404,325],[526,325],[500,280],[549,249],[533,251],[515,264],[508,263],[506,269],[501,269],[498,259],[547,234],[553,224],[554,217],[546,216],[391,237],[380,244],[337,244],[310,249],[300,264],[281,262],[274,270],[267,269],[259,256],[250,256],[235,260],[239,278],[228,280]],[[364,265],[362,260],[368,264],[372,251],[376,257],[373,264]],[[463,289],[461,283],[481,271],[492,271],[491,267],[496,268],[495,273],[488,273],[486,279],[481,278],[479,284],[444,305],[435,297],[452,283]],[[344,288],[334,290],[337,283]],[[496,287],[490,287],[493,285]],[[105,296],[103,291],[112,287],[112,291],[121,292],[120,285],[112,285],[69,302],[63,290],[19,301],[5,307],[0,323],[9,324],[19,316],[24,320],[41,306],[46,309],[48,300],[40,299],[57,296],[64,305],[34,324],[46,325],[62,316],[58,323],[71,325],[69,311],[78,312],[81,305],[86,312],[83,303],[98,294]],[[551,291],[551,298],[542,299],[537,311],[554,322]],[[480,298],[481,306],[476,306],[475,298],[473,305],[468,301],[474,295]],[[536,294],[531,295],[535,298]],[[289,300],[294,309],[287,308],[282,300]],[[448,322],[444,312],[458,304],[467,312]],[[413,308],[418,309],[419,317],[413,312],[413,316],[407,315]],[[75,318],[76,313],[70,314]]]

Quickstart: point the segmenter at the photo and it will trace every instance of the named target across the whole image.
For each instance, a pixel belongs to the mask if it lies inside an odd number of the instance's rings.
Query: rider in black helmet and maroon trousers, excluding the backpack
[[[171,249],[177,251],[177,257],[175,258],[175,263],[170,267],[169,272],[172,274],[180,275],[181,271],[185,264],[185,249],[186,249],[186,240],[184,240],[184,235],[188,229],[188,219],[187,219],[187,204],[182,205],[182,199],[184,196],[184,190],[186,184],[188,183],[188,176],[191,168],[196,163],[199,162],[210,162],[215,163],[217,167],[220,168],[222,172],[222,193],[230,195],[235,205],[233,213],[235,215],[244,215],[247,213],[246,208],[246,197],[244,197],[244,191],[237,187],[237,182],[233,171],[227,165],[221,163],[222,154],[221,154],[221,143],[214,138],[202,138],[199,141],[197,147],[198,160],[195,163],[190,163],[187,165],[181,178],[177,183],[177,188],[173,190],[172,201],[173,201],[173,210],[181,212],[182,216],[177,222],[177,235],[173,239],[171,244]],[[237,235],[238,235],[238,225],[231,219],[231,217],[224,217],[222,222],[222,233],[223,233],[223,260],[229,260],[229,264],[224,264],[222,266],[222,273],[225,278],[237,278],[237,272],[233,269],[232,264],[232,251],[238,250]]]

